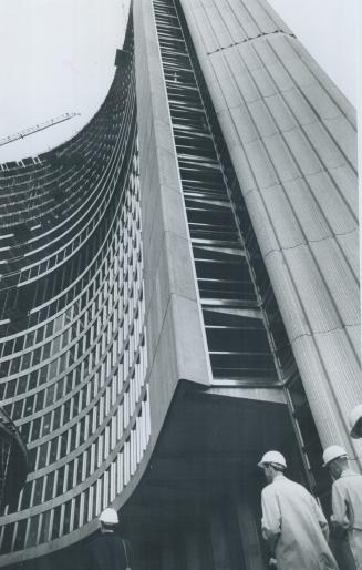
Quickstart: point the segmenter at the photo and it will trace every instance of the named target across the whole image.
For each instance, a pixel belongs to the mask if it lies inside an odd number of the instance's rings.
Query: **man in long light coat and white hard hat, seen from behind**
[[[261,493],[262,536],[278,570],[337,570],[325,517],[304,487],[285,477],[285,457],[268,451],[258,466],[269,484]]]

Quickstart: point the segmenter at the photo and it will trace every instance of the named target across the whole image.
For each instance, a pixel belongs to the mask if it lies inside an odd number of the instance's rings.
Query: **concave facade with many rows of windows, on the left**
[[[30,471],[0,517],[2,566],[92,532],[147,450],[131,24],[116,64],[79,135],[0,174],[0,390]]]

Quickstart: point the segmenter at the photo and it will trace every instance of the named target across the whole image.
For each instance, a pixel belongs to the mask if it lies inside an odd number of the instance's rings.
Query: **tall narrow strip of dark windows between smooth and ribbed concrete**
[[[213,376],[252,385],[276,383],[273,356],[177,10],[159,0],[154,8]]]

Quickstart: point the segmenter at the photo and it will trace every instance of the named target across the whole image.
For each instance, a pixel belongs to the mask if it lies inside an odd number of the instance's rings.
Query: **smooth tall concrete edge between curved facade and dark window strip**
[[[134,9],[154,445],[177,383],[187,379],[208,384],[210,370],[152,2],[135,2]],[[192,347],[196,349],[195,356]]]

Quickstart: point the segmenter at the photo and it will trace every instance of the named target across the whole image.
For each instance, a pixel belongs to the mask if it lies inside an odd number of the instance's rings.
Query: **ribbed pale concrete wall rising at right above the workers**
[[[322,444],[361,455],[354,110],[267,2],[180,3]]]

